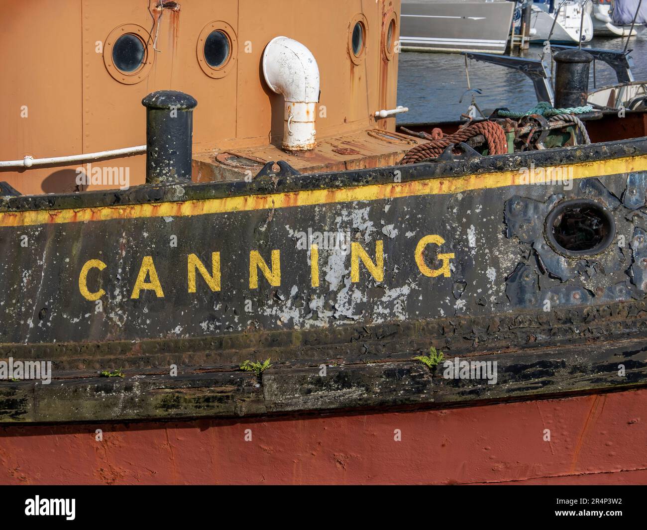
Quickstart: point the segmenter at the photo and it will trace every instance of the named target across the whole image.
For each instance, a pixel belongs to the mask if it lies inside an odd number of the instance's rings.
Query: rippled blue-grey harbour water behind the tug
[[[622,50],[625,43],[626,39],[594,38],[582,48]],[[629,48],[633,49],[635,79],[647,79],[647,30],[632,37]],[[533,59],[541,54],[542,46],[534,44],[524,52],[524,56]],[[525,74],[469,60],[468,68],[472,89],[483,92],[483,95],[476,96],[481,109],[508,107],[525,111],[536,104],[532,82]],[[595,70],[598,87],[615,83],[615,73],[608,65],[596,61]],[[589,85],[593,87],[593,68]],[[402,52],[399,57],[398,105],[409,107],[409,112],[398,115],[397,123],[457,120],[470,105],[471,95],[463,96],[466,90],[465,57],[461,54]],[[459,103],[461,96],[463,102]]]

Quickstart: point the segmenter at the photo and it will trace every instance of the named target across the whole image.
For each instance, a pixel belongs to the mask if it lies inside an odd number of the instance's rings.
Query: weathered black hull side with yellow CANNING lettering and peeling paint
[[[572,186],[527,184],[531,162],[569,168]],[[0,421],[447,406],[641,386],[645,171],[640,139],[5,199],[0,357],[52,360],[54,381],[0,382]],[[564,256],[545,236],[551,211],[573,199],[613,219],[604,251]],[[353,245],[326,248],[325,232]],[[496,360],[498,383],[443,379],[411,360],[432,345],[446,359]],[[267,357],[260,379],[237,370]],[[126,377],[98,377],[117,368]]]

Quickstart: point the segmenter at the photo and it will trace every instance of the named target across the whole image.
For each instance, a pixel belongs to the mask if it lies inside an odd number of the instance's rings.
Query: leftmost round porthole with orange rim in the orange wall
[[[105,39],[104,65],[118,82],[134,85],[146,76],[155,60],[148,32],[136,24],[113,29]]]

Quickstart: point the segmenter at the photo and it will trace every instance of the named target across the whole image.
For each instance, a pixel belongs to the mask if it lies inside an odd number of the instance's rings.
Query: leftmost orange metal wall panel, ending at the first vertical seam
[[[80,2],[3,3],[2,13],[0,160],[82,153]],[[65,168],[35,169],[24,175],[0,170],[0,179],[23,193],[54,191],[61,180],[56,171],[61,170]],[[69,180],[69,171],[65,175]]]

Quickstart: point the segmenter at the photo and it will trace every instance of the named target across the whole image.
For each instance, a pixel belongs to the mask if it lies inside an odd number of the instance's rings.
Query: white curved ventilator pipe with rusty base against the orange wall
[[[263,76],[270,89],[285,98],[283,149],[314,149],[319,67],[312,52],[294,39],[275,37],[263,52]]]

